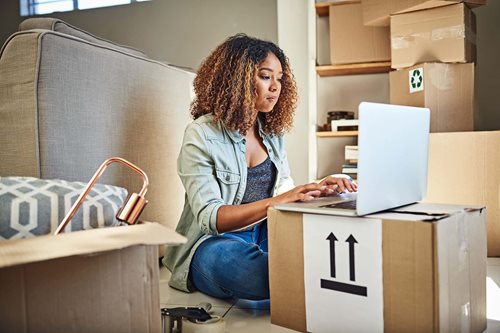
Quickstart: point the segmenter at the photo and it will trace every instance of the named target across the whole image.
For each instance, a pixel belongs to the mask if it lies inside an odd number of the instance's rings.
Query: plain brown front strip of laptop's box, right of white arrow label
[[[437,332],[433,224],[384,220],[384,331]]]

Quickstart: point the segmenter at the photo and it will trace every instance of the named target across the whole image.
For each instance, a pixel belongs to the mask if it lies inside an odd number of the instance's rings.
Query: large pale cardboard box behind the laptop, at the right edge
[[[426,201],[486,206],[488,256],[500,257],[500,131],[432,133]]]

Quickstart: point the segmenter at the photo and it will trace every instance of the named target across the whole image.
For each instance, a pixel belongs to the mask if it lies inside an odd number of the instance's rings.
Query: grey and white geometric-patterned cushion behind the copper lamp
[[[87,183],[0,177],[0,239],[53,233]],[[65,232],[119,225],[115,215],[127,190],[96,184]]]

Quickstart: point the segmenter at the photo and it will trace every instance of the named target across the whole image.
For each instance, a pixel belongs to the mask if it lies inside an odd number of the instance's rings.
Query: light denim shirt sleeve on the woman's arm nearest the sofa
[[[201,231],[218,234],[217,211],[224,201],[209,147],[201,126],[191,123],[184,132],[177,172]]]

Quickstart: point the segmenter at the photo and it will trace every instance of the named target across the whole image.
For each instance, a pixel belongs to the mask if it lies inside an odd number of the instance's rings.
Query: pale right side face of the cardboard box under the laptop
[[[441,332],[482,332],[486,328],[482,214],[484,211],[475,210],[454,215],[435,226]]]

